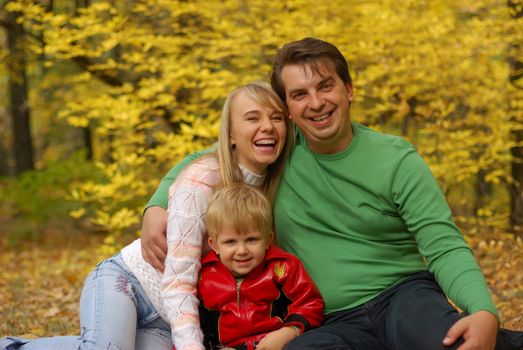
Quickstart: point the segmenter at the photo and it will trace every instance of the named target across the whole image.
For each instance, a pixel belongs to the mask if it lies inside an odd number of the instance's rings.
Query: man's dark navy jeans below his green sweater
[[[448,302],[429,272],[417,273],[353,309],[328,314],[325,324],[291,341],[285,350],[456,349],[442,345],[464,314]],[[519,350],[523,333],[500,330],[496,349]]]

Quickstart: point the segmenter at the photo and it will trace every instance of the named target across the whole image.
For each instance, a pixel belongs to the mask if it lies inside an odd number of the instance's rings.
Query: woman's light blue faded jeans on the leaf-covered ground
[[[80,299],[80,336],[3,338],[0,350],[172,350],[171,329],[120,254],[99,263]]]

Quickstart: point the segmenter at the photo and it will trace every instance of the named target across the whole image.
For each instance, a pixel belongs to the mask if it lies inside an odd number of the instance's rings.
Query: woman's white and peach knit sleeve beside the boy
[[[162,300],[176,350],[205,349],[196,297],[206,235],[203,218],[208,205],[208,188],[204,187],[182,185],[171,190],[169,195]]]

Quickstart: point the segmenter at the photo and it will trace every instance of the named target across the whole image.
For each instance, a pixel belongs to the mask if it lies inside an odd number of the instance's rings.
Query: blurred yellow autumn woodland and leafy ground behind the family
[[[277,49],[335,44],[354,121],[414,143],[523,328],[523,1],[0,0],[0,336],[78,332],[85,275]]]

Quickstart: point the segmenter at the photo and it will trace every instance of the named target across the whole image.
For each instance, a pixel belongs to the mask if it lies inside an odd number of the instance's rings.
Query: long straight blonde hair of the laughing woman
[[[218,137],[218,147],[215,156],[220,164],[220,174],[222,185],[228,186],[235,182],[242,182],[242,173],[238,167],[236,152],[230,140],[231,133],[231,105],[233,99],[238,94],[245,94],[247,97],[262,106],[268,106],[281,111],[285,114],[285,125],[287,135],[285,145],[278,159],[267,167],[267,176],[263,184],[263,192],[269,201],[273,201],[278,188],[281,174],[285,166],[285,159],[289,155],[294,145],[294,126],[288,117],[285,104],[278,95],[271,89],[271,86],[264,82],[253,82],[243,85],[227,96],[223,105],[222,117],[220,120],[220,136]]]

